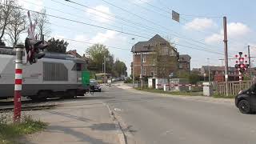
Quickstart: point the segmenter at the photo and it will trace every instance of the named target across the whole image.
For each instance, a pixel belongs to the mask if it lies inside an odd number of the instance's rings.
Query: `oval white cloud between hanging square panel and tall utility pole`
[[[186,23],[184,28],[186,30],[207,30],[215,26],[217,24],[210,18],[194,18],[193,21]]]

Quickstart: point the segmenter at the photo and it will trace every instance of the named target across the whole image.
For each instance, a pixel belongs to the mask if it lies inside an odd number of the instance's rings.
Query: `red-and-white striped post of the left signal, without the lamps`
[[[20,122],[22,110],[22,52],[24,46],[15,46],[14,122]]]

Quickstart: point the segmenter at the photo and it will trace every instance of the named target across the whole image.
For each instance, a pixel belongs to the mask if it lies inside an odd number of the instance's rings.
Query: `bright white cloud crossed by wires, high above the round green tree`
[[[95,10],[91,10],[91,9],[88,9],[86,10],[86,14],[88,16],[90,16],[91,18],[94,18],[96,21],[98,22],[111,22],[114,20],[113,17],[110,17],[110,14],[112,14],[110,12],[110,8],[107,7],[107,6],[95,6],[94,7]],[[96,11],[98,10],[98,11]],[[99,12],[101,11],[101,12]]]

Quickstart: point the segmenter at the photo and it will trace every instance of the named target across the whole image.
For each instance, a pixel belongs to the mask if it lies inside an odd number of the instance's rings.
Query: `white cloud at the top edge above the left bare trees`
[[[44,0],[18,0],[18,3],[28,10],[40,11],[43,8]]]

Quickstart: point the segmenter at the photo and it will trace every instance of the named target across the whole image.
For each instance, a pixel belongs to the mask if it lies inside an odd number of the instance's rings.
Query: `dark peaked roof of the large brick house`
[[[144,41],[144,42],[137,42],[132,49],[130,50],[131,52],[135,51],[135,52],[141,52],[141,51],[153,51],[154,50],[154,46],[158,43],[170,43],[168,41],[166,41],[166,39],[162,38],[160,35],[156,34],[154,35],[153,38],[150,38],[150,40],[148,41]],[[135,47],[135,49],[134,49]]]

